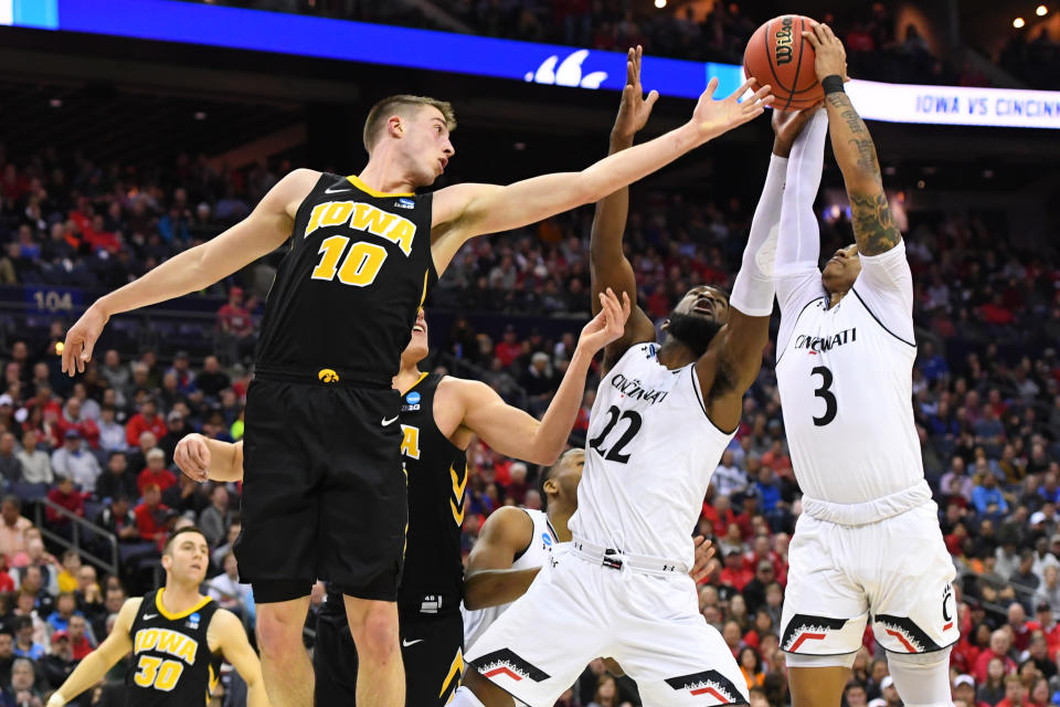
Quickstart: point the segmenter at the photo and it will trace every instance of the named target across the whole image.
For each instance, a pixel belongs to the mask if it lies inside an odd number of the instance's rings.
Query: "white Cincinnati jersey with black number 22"
[[[707,416],[695,365],[670,370],[633,346],[596,389],[571,531],[692,566],[692,531],[732,433]]]

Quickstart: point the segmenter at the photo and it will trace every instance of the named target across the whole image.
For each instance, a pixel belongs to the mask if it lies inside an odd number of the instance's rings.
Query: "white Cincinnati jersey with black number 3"
[[[833,307],[816,266],[777,274],[776,379],[792,467],[806,496],[836,504],[876,500],[924,479],[905,246],[860,258],[861,274]]]

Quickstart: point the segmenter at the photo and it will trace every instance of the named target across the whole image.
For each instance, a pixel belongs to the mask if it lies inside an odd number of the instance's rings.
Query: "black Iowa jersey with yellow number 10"
[[[321,175],[265,303],[258,368],[389,388],[437,281],[431,204],[430,193],[388,194],[357,177]]]

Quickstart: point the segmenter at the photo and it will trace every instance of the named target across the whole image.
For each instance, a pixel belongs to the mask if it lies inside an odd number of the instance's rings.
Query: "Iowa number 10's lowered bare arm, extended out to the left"
[[[290,238],[298,205],[319,178],[318,172],[296,169],[269,189],[251,215],[221,235],[174,255],[144,277],[97,299],[66,334],[63,372],[84,372],[113,315],[208,287],[279,247]]]

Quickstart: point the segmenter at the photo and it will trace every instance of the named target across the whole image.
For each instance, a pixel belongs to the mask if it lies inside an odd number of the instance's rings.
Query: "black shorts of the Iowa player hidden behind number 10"
[[[464,674],[464,616],[457,611],[422,614],[399,609],[405,704],[443,707]],[[341,603],[328,601],[317,614],[312,650],[318,705],[352,705],[357,648]]]

